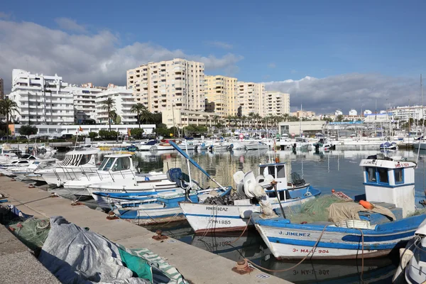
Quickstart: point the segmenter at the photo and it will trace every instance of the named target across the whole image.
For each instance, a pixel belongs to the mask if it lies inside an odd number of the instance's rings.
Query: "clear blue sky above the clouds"
[[[207,74],[244,81],[352,73],[417,80],[426,62],[424,11],[425,1],[4,1],[0,20],[90,40],[108,31],[122,52],[147,43],[211,57]],[[151,57],[138,50],[133,59],[140,65]]]

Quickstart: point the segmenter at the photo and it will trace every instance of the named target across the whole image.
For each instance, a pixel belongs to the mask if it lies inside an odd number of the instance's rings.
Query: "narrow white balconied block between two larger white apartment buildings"
[[[92,83],[87,83],[82,84],[81,87],[69,86],[66,89],[74,98],[74,115],[77,124],[96,121],[96,97],[106,88],[94,87]]]

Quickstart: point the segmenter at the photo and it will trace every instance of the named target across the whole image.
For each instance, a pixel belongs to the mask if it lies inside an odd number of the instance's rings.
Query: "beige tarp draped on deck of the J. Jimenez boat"
[[[366,209],[361,204],[355,202],[333,203],[328,208],[329,222],[340,222],[344,220],[359,220],[360,211],[376,212],[396,220],[395,215],[388,208],[374,204],[373,209]]]

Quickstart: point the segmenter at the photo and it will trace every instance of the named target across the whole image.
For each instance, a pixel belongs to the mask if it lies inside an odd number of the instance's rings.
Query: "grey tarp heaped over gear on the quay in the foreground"
[[[150,283],[132,278],[123,266],[118,247],[92,231],[68,223],[63,217],[50,218],[50,232],[39,261],[62,283]]]

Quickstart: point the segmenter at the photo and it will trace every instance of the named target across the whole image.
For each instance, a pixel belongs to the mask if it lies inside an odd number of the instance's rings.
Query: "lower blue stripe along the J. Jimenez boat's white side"
[[[414,235],[414,231],[412,233]],[[289,245],[295,245],[295,246],[308,246],[313,247],[315,246],[315,243],[317,241],[304,241],[304,240],[296,240],[296,239],[283,239],[283,238],[276,238],[272,236],[268,236],[268,241],[276,244],[289,244]],[[395,239],[395,241],[391,244],[365,244],[364,243],[364,250],[381,250],[381,249],[393,249],[401,239]],[[362,243],[359,241],[357,244],[342,244],[342,243],[327,243],[322,242],[318,243],[317,247],[319,248],[329,248],[329,249],[354,249],[359,250],[362,249]]]

